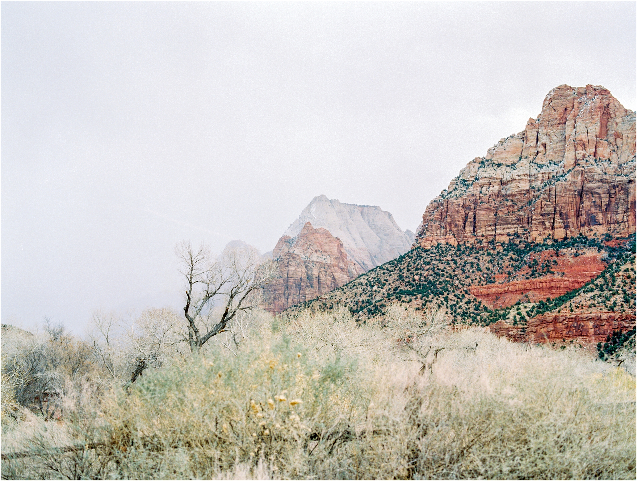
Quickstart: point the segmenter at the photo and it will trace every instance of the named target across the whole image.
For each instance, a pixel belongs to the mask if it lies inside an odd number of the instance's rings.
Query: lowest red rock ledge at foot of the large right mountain
[[[634,313],[573,313],[548,314],[529,320],[528,325],[509,325],[498,321],[489,326],[497,336],[529,343],[578,341],[599,343],[613,332],[626,332],[635,327]]]

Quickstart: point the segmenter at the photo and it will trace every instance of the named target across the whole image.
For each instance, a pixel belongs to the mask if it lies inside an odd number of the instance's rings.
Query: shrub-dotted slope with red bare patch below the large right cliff
[[[415,309],[445,307],[455,322],[478,325],[507,320],[522,326],[550,313],[617,313],[633,319],[634,325],[635,242],[606,239],[579,236],[543,244],[520,241],[501,246],[490,242],[483,246],[415,248],[292,310],[332,309],[340,304],[366,322],[385,315],[392,302],[401,302]],[[587,265],[601,267],[569,272],[580,258],[587,259]],[[505,305],[497,303],[497,295],[484,294],[489,288],[499,292],[516,282],[525,283],[527,290],[509,297]],[[564,292],[560,283],[571,289]]]

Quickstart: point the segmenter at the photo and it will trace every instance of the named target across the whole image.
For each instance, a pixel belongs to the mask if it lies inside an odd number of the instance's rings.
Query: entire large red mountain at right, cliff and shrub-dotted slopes
[[[524,131],[427,205],[413,249],[294,309],[443,307],[534,343],[598,343],[636,323],[636,114],[559,85]]]

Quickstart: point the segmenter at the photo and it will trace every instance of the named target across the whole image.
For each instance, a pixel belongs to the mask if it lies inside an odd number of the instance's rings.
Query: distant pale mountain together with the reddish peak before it
[[[377,205],[316,196],[273,250],[278,278],[264,289],[265,307],[280,313],[320,297],[409,251],[413,240]]]

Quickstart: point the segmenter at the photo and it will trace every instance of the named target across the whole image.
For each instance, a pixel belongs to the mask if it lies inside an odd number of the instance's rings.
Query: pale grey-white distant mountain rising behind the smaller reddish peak
[[[296,237],[308,222],[341,239],[348,258],[360,272],[395,259],[413,244],[413,233],[403,232],[392,214],[377,205],[342,203],[319,195],[303,209],[284,235]]]

